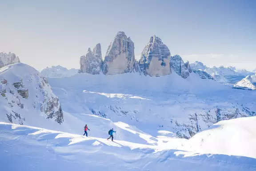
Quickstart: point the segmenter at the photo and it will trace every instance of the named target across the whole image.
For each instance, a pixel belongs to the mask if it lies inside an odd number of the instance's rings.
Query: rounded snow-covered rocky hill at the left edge
[[[63,111],[52,87],[36,69],[18,63],[0,69],[0,120],[45,126],[63,123]],[[52,121],[47,121],[52,120]]]

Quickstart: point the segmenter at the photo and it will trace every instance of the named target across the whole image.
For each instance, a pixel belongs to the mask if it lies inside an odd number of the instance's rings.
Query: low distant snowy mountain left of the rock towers
[[[75,68],[67,69],[60,65],[52,66],[51,68],[47,67],[41,71],[42,76],[51,77],[51,78],[69,77],[69,76],[74,76],[77,73],[78,73],[78,69],[75,69]]]

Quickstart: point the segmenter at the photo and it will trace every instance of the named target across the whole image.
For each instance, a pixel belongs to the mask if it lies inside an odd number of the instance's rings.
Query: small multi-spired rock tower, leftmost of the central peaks
[[[100,74],[102,62],[101,46],[96,44],[93,52],[88,48],[87,54],[80,57],[80,72]]]

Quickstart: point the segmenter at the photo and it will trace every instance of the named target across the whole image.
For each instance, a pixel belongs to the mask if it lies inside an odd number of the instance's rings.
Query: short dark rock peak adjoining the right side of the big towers
[[[184,61],[179,55],[171,56],[170,67],[182,78],[189,76],[188,68],[185,66]]]

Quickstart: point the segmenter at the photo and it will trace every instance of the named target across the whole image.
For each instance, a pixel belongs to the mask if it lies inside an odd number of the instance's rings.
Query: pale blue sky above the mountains
[[[150,36],[172,55],[208,66],[256,68],[256,0],[0,0],[0,52],[36,69],[79,68],[97,43],[103,56],[116,32],[138,59]]]

